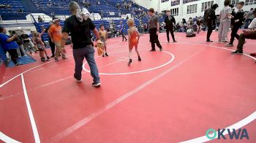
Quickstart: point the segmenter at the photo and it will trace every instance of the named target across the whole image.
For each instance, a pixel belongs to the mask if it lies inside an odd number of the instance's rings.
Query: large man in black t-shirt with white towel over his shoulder
[[[89,63],[91,69],[91,76],[94,77],[94,82],[92,86],[99,87],[101,84],[99,82],[99,71],[94,60],[94,47],[93,42],[91,42],[91,31],[99,39],[99,33],[97,28],[95,28],[94,23],[91,19],[86,17],[87,13],[79,12],[80,9],[78,3],[71,1],[69,3],[69,10],[72,16],[67,18],[64,23],[64,28],[62,31],[62,42],[61,47],[64,47],[69,33],[71,34],[73,43],[73,56],[75,58],[75,74],[74,77],[78,82],[82,81],[81,71],[83,69],[83,59]]]

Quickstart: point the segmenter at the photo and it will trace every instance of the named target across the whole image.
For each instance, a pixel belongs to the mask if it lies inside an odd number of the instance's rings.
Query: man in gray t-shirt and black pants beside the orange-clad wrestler
[[[154,9],[151,8],[148,10],[148,15],[150,16],[149,23],[149,34],[150,34],[150,42],[151,42],[151,50],[156,51],[155,43],[157,47],[159,47],[160,51],[162,51],[162,46],[160,45],[158,34],[159,34],[159,18],[157,15],[154,15]]]

